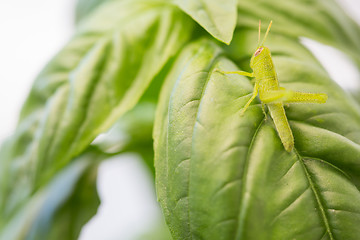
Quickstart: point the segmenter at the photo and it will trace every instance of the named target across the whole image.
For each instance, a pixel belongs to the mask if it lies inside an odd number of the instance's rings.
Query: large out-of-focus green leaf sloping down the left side
[[[103,3],[79,25],[36,79],[2,148],[1,219],[135,106],[192,26],[173,5],[149,0]]]

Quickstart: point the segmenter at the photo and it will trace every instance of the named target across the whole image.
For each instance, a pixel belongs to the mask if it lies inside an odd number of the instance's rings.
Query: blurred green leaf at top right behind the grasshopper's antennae
[[[239,1],[238,8],[239,26],[257,29],[259,19],[266,27],[273,20],[273,33],[334,46],[360,67],[360,27],[334,0],[251,0]]]

